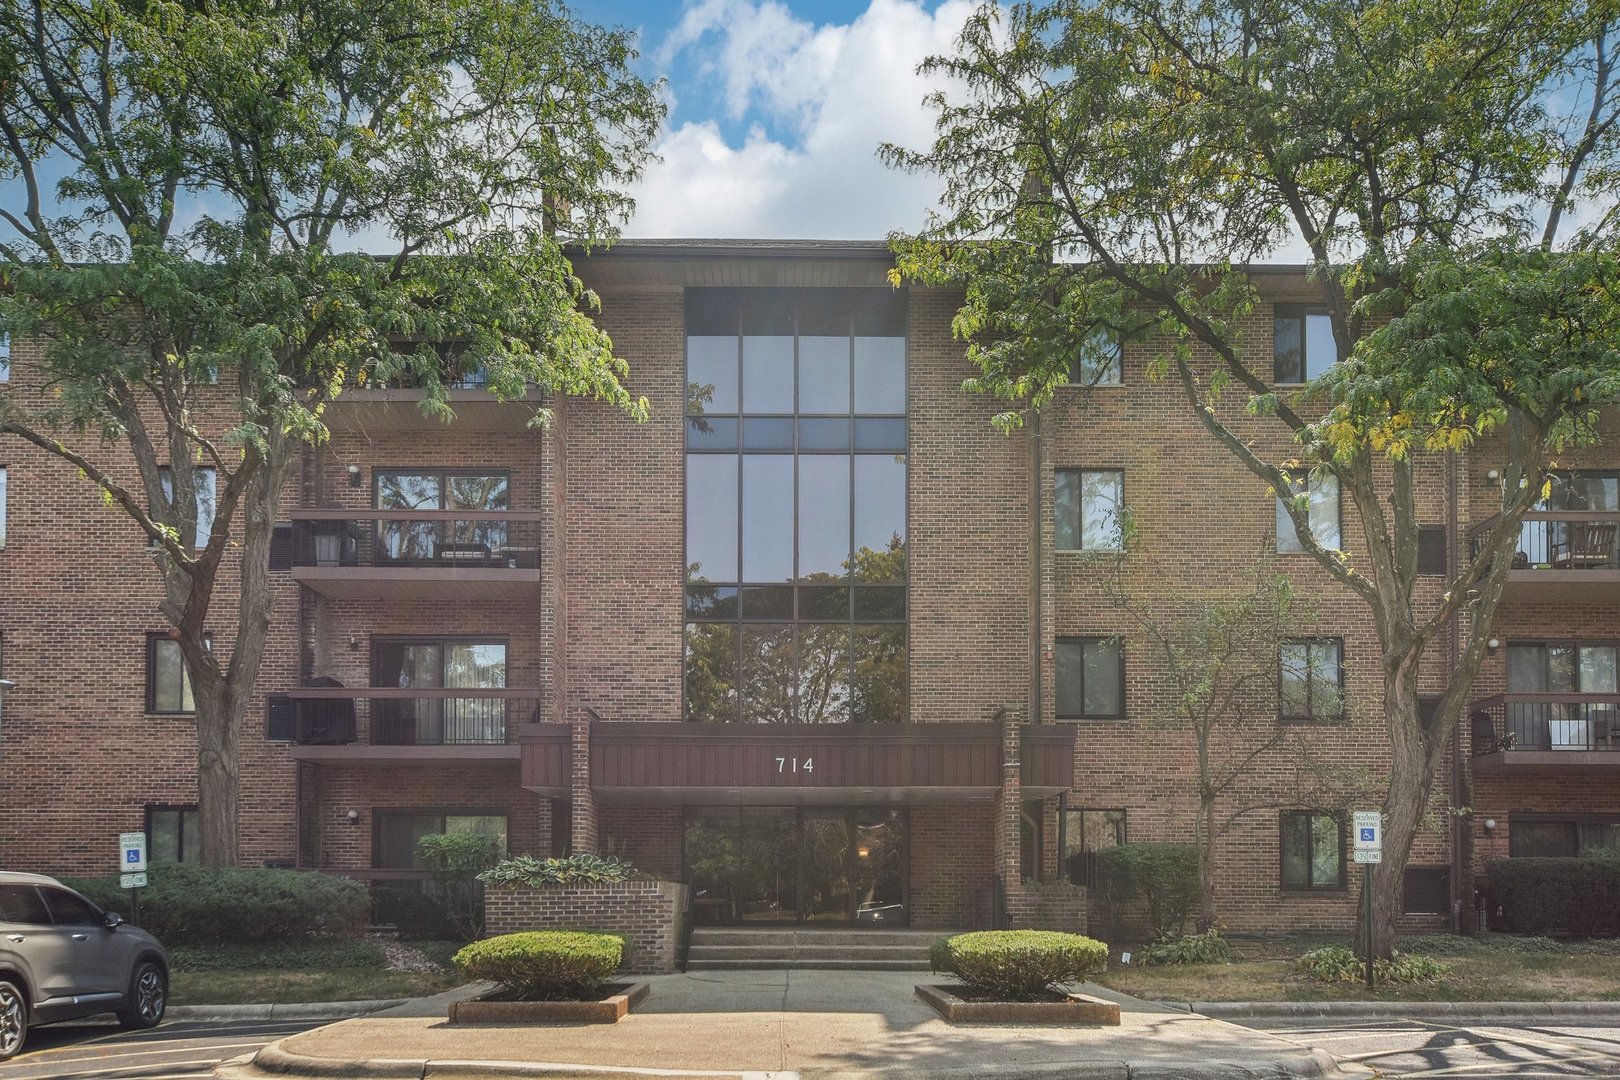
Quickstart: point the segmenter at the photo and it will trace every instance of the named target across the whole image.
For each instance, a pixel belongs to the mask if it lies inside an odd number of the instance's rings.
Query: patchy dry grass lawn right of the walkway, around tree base
[[[1097,983],[1150,1001],[1620,1001],[1620,942],[1558,942],[1547,938],[1453,938],[1401,941],[1450,965],[1426,984],[1320,983],[1293,960],[1332,939],[1233,938],[1236,963],[1186,967],[1113,965]]]

